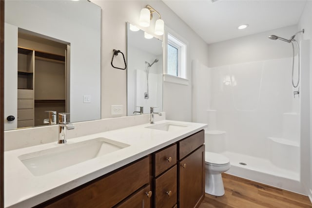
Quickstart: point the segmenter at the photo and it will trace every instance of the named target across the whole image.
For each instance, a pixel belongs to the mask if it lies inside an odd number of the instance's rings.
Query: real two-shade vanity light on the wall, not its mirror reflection
[[[164,21],[161,19],[159,12],[150,5],[146,5],[145,8],[141,10],[140,25],[143,27],[149,27],[150,20],[153,19],[153,13],[156,13],[159,16],[159,19],[157,19],[155,23],[155,34],[157,36],[162,36],[164,34]]]

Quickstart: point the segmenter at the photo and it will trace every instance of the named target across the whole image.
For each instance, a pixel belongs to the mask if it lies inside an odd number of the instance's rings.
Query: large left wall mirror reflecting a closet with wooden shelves
[[[5,130],[48,125],[46,111],[100,119],[100,7],[6,0],[4,27]]]

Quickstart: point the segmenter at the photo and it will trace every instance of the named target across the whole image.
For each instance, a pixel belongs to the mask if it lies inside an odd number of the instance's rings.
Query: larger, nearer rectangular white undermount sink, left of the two
[[[19,159],[33,175],[39,176],[129,146],[128,144],[100,137],[23,154],[19,156]]]

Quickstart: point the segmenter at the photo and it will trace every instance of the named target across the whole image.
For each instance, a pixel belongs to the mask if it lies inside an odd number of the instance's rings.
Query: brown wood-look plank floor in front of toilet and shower
[[[222,174],[225,194],[205,194],[199,208],[312,208],[308,196]]]

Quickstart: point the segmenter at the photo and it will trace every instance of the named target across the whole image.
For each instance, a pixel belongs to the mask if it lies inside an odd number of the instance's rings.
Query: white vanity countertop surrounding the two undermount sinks
[[[66,144],[57,144],[57,142],[53,142],[12,151],[5,151],[4,207],[33,207],[207,127],[206,124],[201,123],[170,120],[155,122],[154,125],[167,122],[182,125],[187,124],[188,126],[181,128],[180,130],[167,132],[145,128],[152,126],[153,124],[143,124],[68,139]],[[18,158],[18,156],[22,154],[77,143],[98,137],[104,137],[126,143],[130,146],[40,176],[34,176]],[[49,161],[47,161],[47,163],[48,162]]]

